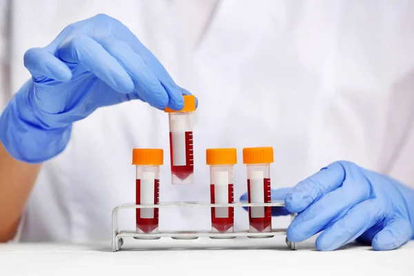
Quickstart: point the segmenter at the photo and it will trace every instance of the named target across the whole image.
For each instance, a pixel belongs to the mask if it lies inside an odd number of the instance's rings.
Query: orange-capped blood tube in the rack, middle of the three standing
[[[211,204],[231,204],[233,195],[233,166],[237,164],[235,148],[210,148],[206,150],[206,164],[210,165]],[[212,207],[213,233],[233,233],[234,207]]]

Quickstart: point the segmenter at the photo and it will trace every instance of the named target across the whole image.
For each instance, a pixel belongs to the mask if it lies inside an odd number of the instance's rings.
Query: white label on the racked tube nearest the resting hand
[[[250,203],[264,203],[264,176],[262,170],[250,172]],[[252,217],[264,217],[264,207],[251,207]]]

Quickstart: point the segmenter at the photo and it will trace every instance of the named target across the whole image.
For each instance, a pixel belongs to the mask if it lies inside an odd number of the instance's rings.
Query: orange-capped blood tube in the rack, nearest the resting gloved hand
[[[244,148],[243,163],[247,170],[248,203],[270,203],[270,163],[273,148]],[[267,233],[272,230],[272,209],[269,206],[249,207],[250,232]]]

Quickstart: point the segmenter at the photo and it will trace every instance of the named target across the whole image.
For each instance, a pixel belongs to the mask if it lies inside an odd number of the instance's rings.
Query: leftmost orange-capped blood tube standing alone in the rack
[[[159,166],[164,163],[161,149],[134,148],[132,164],[137,170],[137,205],[159,204]],[[137,208],[137,233],[158,233],[158,208]]]

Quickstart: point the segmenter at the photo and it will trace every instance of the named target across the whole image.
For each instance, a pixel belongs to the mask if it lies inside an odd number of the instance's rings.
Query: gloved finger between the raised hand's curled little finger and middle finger
[[[87,35],[68,39],[57,49],[57,54],[67,63],[79,63],[118,92],[130,93],[134,90],[132,79],[117,59]]]

